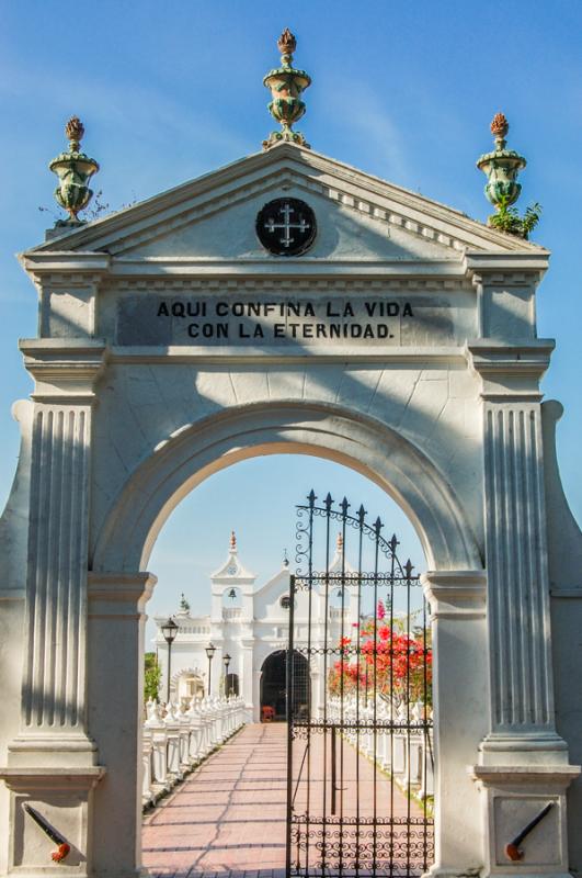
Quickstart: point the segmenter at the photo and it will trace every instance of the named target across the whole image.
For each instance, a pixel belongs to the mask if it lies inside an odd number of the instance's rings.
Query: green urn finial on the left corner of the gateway
[[[99,170],[94,158],[81,153],[84,134],[81,120],[71,116],[65,126],[65,134],[69,140],[69,151],[61,153],[48,166],[58,177],[55,198],[69,214],[68,219],[57,222],[58,226],[79,225],[82,222],[77,214],[91,201],[93,192],[89,189],[89,180]]]

